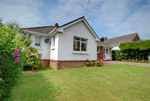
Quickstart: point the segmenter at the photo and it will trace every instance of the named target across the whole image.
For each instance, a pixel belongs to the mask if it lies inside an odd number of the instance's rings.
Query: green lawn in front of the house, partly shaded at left
[[[150,67],[106,65],[24,73],[10,99],[51,101],[51,96],[56,101],[150,101]]]

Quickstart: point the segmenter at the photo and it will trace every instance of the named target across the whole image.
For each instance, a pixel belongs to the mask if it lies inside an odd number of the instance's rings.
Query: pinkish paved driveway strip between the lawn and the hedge
[[[129,64],[129,65],[139,65],[139,66],[150,66],[148,63],[137,63],[137,62],[123,62],[123,61],[103,61],[105,65],[107,64]]]

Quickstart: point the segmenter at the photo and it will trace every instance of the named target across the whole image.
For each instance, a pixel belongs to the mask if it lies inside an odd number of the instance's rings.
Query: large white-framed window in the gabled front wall
[[[87,39],[74,36],[73,51],[87,51]]]

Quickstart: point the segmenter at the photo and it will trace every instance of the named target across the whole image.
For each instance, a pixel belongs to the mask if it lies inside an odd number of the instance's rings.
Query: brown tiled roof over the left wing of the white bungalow
[[[23,29],[24,30],[27,29],[27,30],[33,31],[33,32],[39,32],[39,33],[48,34],[54,28],[55,28],[55,26],[41,26],[41,27],[30,27],[30,28],[23,28]]]

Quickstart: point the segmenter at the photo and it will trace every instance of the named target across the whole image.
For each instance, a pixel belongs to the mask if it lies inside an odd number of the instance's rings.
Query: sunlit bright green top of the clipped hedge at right
[[[122,42],[122,43],[119,43],[119,48],[122,50],[126,50],[126,49],[149,50],[150,49],[150,40]]]

